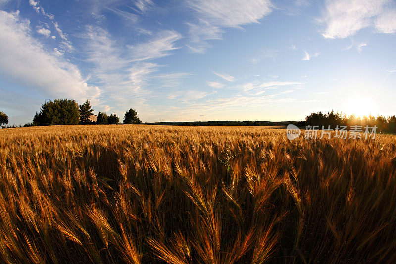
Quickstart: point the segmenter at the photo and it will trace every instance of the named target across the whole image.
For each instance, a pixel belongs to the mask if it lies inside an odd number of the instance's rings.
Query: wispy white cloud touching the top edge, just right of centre
[[[196,11],[198,23],[188,23],[192,44],[190,51],[204,53],[206,40],[221,39],[222,27],[237,27],[259,20],[271,13],[270,0],[188,0]]]

